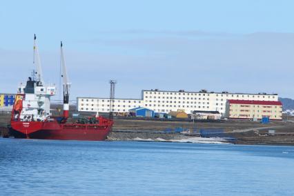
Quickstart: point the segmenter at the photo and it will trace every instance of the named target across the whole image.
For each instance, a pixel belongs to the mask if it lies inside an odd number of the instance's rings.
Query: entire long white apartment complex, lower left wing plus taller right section
[[[155,112],[170,112],[184,110],[191,114],[193,110],[226,112],[228,99],[278,101],[277,94],[248,94],[231,92],[186,92],[184,90],[142,90],[141,99],[115,99],[112,104],[113,112],[128,112],[130,108],[145,107]],[[109,112],[109,98],[78,97],[78,111]]]

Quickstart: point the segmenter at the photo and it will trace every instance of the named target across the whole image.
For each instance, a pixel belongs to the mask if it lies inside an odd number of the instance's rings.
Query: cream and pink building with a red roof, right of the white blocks
[[[230,119],[282,120],[281,101],[231,100],[226,104],[226,117]]]

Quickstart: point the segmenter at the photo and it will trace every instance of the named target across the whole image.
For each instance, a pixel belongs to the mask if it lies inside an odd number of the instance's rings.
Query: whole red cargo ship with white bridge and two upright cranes
[[[56,95],[55,85],[43,82],[39,51],[34,37],[34,61],[36,70],[26,84],[20,84],[14,99],[10,120],[10,133],[15,138],[105,140],[113,121],[106,117],[86,117],[68,122],[70,82],[66,72],[61,42],[61,77],[63,78],[63,115],[54,117],[50,110],[50,97]]]

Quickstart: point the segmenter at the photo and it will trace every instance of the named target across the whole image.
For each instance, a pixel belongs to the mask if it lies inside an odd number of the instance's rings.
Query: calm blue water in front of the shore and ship
[[[294,195],[294,147],[0,138],[0,195]]]

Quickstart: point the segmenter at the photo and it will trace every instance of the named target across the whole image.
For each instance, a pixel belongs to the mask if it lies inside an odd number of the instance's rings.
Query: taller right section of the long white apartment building
[[[277,94],[207,92],[207,90],[199,92],[142,90],[142,96],[144,107],[155,110],[155,112],[184,110],[188,114],[193,113],[193,110],[209,110],[219,111],[224,115],[228,99],[278,101]]]

